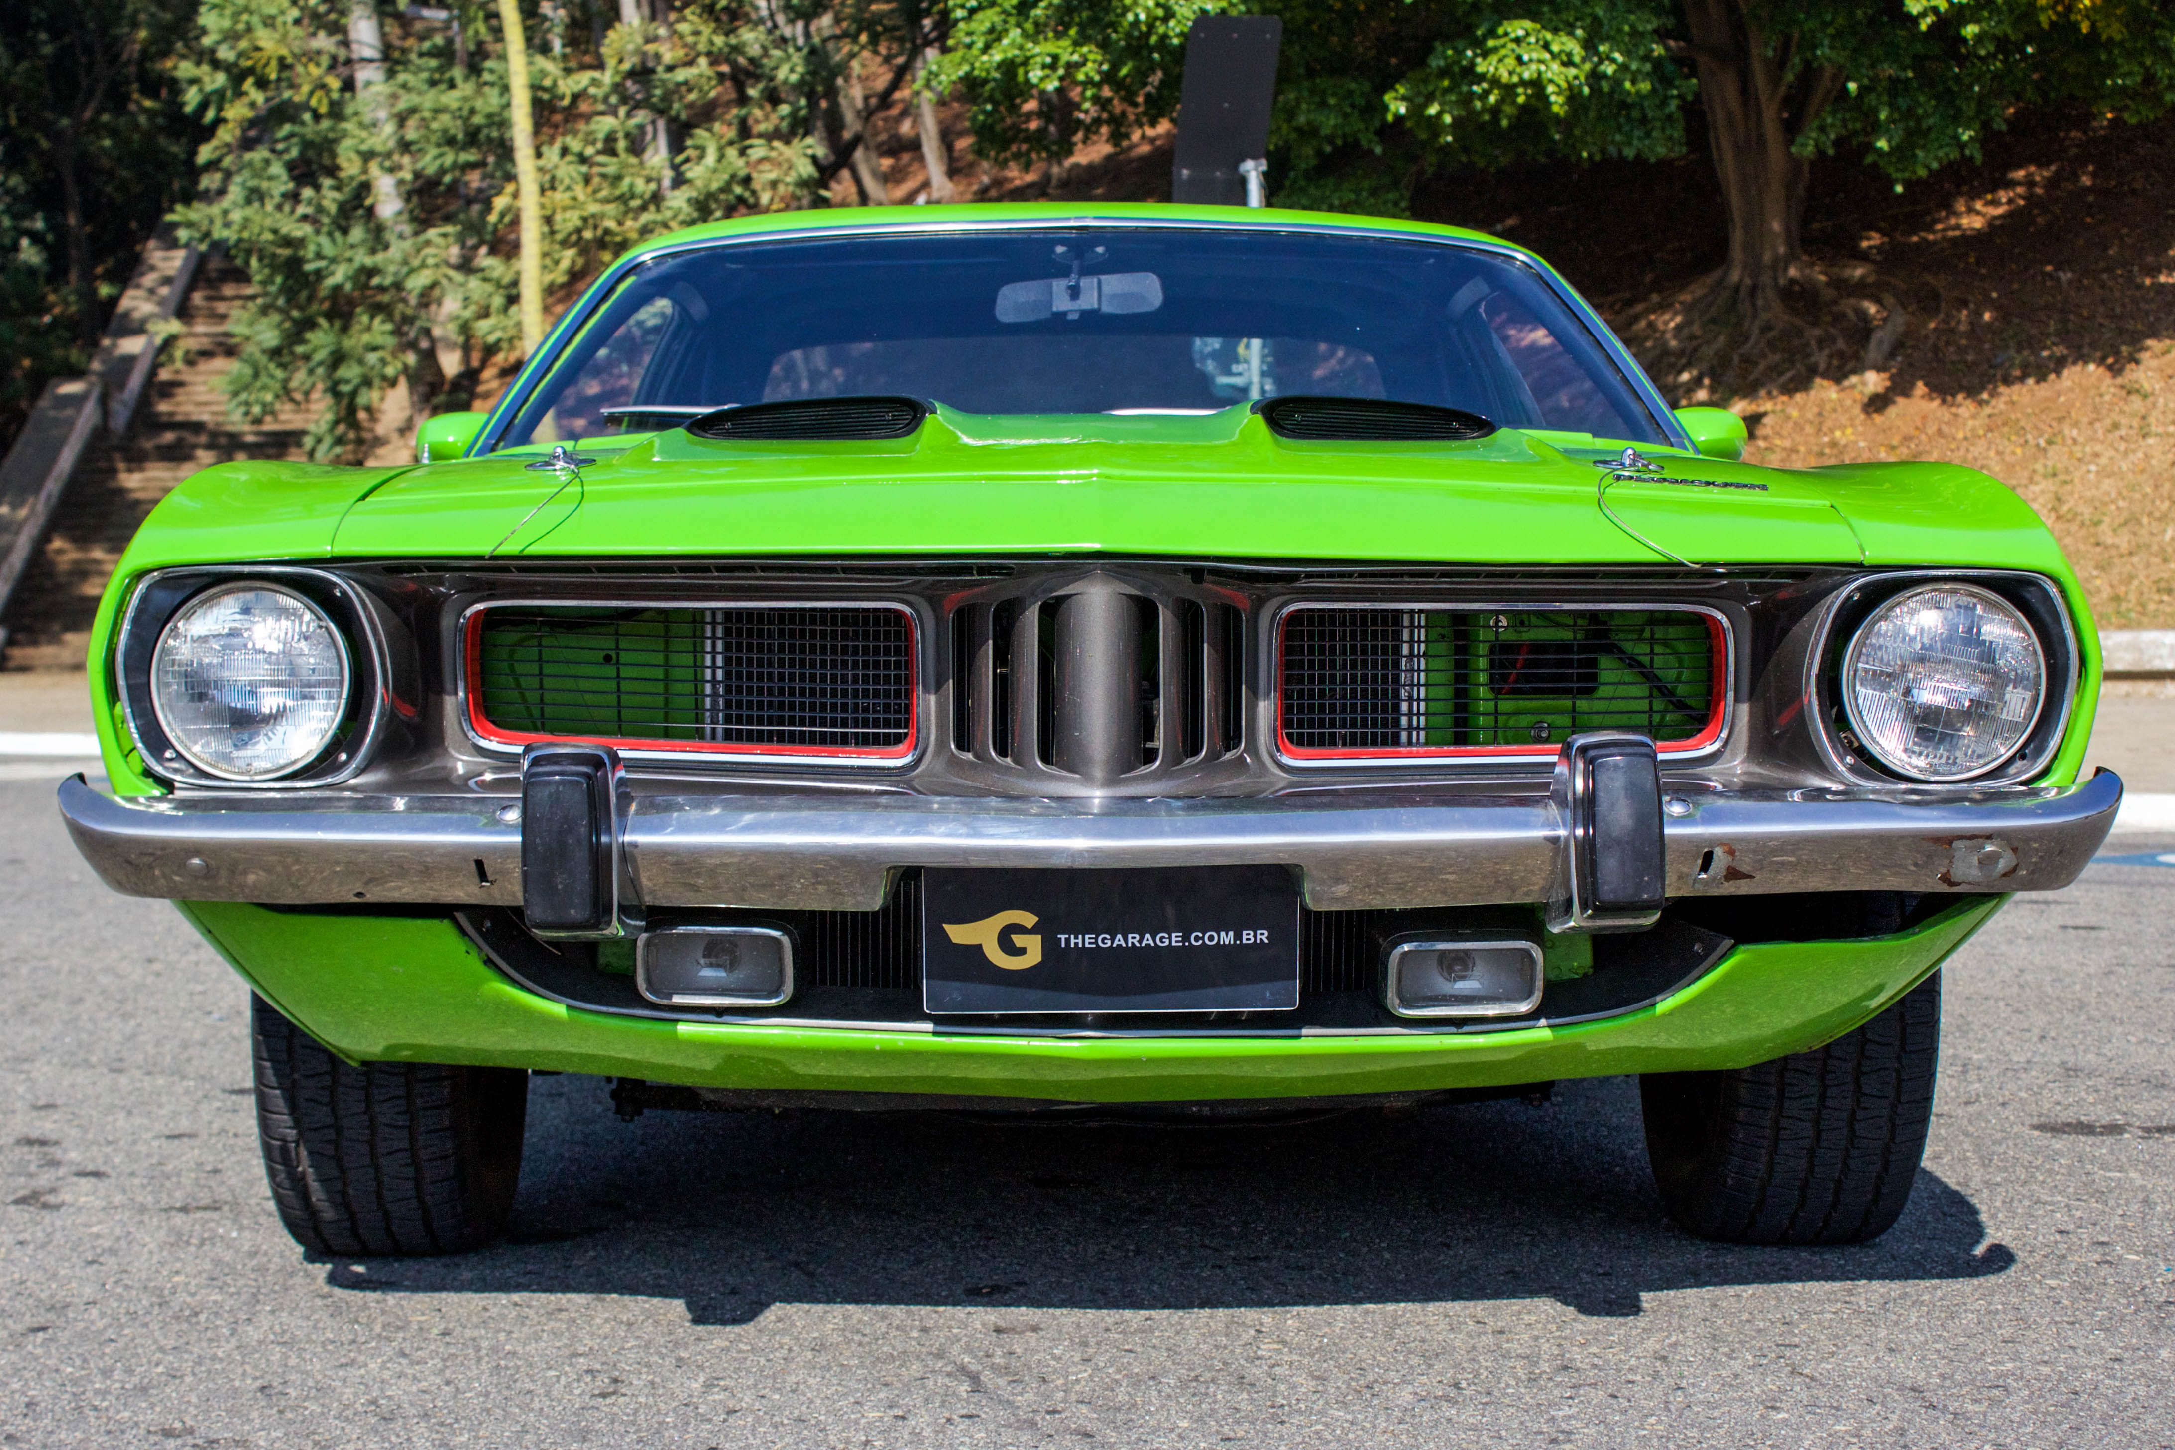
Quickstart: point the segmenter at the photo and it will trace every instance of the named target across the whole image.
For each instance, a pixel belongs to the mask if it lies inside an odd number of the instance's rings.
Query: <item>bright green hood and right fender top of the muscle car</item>
[[[433,463],[374,480],[341,557],[1044,554],[1444,563],[2005,563],[2060,557],[1999,483],[1951,465],[1768,470],[1505,428],[1459,443],[1294,441],[1198,417],[948,409],[881,441],[685,430]],[[1607,485],[1605,498],[1596,498]]]

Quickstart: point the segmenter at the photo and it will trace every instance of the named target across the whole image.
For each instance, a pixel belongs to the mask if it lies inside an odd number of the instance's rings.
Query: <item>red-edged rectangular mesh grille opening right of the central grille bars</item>
[[[1705,615],[1668,609],[1296,609],[1279,687],[1298,752],[1683,741],[1712,720],[1716,648]]]

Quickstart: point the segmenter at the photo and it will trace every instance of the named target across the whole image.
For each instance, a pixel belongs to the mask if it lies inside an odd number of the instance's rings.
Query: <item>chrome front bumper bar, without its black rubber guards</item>
[[[1677,791],[1668,896],[2053,891],[2114,824],[2112,772],[2062,789]],[[631,796],[624,880],[646,907],[874,911],[909,865],[1294,865],[1316,911],[1549,900],[1551,796],[959,800]],[[522,904],[520,811],[483,796],[115,800],[61,815],[124,896],[261,904]]]

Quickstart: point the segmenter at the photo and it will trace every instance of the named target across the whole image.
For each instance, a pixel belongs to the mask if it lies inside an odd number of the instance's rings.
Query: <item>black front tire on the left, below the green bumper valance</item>
[[[461,1254],[513,1207],[529,1074],[363,1063],[252,998],[257,1135],[272,1202],[320,1254]]]

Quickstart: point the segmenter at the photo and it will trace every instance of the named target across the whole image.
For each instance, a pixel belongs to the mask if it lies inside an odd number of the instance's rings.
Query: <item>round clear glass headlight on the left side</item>
[[[226,585],[174,613],[150,657],[150,700],[174,750],[222,780],[309,765],[348,715],[348,646],[278,585]]]

